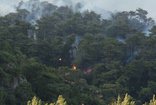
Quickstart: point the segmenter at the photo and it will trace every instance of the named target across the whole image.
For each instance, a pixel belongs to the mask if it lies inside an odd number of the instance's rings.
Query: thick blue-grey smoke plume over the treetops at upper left
[[[40,19],[42,16],[52,14],[53,11],[56,11],[57,6],[50,4],[47,1],[29,0],[20,2],[16,8],[26,9],[29,14],[27,14],[25,21],[35,25],[36,20]]]

